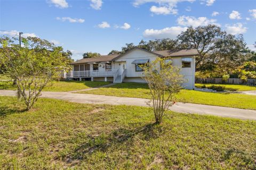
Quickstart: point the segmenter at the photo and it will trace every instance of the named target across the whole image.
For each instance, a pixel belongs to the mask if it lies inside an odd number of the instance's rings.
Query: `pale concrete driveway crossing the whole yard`
[[[1,96],[15,96],[16,91],[0,90]],[[90,94],[72,94],[70,92],[42,92],[42,97],[68,100],[75,103],[86,104],[109,104],[109,105],[130,105],[148,106],[148,99],[115,97]],[[177,103],[171,107],[171,111],[179,113],[197,113],[204,115],[215,115],[222,117],[240,118],[243,120],[256,120],[256,111],[250,109],[238,109],[230,107],[209,106],[191,103]]]

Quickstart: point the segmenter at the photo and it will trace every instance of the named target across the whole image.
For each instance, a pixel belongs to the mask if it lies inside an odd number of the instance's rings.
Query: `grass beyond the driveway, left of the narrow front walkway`
[[[109,84],[110,82],[101,81],[52,81],[51,86],[45,87],[43,91],[73,91],[82,90],[87,88],[93,88]],[[1,82],[0,89],[15,90],[16,86],[12,85],[12,81]]]

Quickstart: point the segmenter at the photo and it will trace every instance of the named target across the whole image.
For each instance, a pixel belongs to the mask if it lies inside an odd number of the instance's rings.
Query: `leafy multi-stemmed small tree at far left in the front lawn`
[[[60,72],[69,67],[68,52],[63,52],[62,47],[55,47],[47,40],[22,38],[24,46],[20,47],[13,40],[3,37],[0,43],[0,63],[4,64],[6,73],[17,80],[18,94],[25,100],[27,110],[33,107],[50,80],[58,78]]]

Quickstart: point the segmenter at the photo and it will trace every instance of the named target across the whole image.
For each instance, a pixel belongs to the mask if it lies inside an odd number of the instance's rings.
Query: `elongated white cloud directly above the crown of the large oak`
[[[208,24],[215,24],[215,25],[219,25],[218,23],[216,23],[217,20],[214,19],[207,19],[206,17],[198,17],[195,18],[194,16],[180,16],[177,19],[177,22],[179,25],[183,25],[183,26],[193,26],[193,27],[198,27],[198,26],[205,26]]]

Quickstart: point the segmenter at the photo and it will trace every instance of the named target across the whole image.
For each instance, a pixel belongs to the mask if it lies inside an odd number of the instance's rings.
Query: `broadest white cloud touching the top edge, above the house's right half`
[[[158,6],[153,5],[150,7],[152,13],[157,15],[178,14],[177,4],[184,1],[194,2],[195,0],[135,0],[133,6],[138,7],[146,3],[156,3]]]

